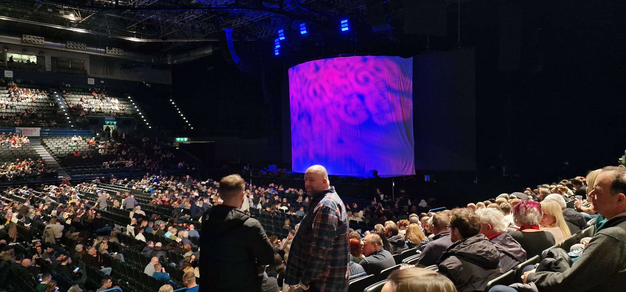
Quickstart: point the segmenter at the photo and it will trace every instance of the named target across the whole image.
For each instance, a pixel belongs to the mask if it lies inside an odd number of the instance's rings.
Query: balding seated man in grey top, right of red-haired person
[[[365,269],[367,274],[378,274],[383,269],[396,265],[393,255],[382,248],[382,239],[376,233],[370,233],[363,240],[363,250],[365,258],[359,264]]]

